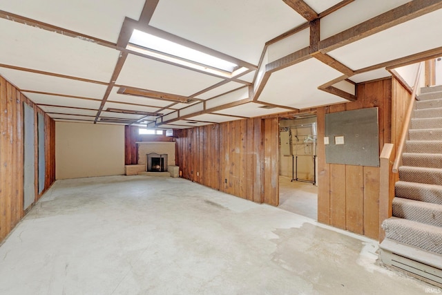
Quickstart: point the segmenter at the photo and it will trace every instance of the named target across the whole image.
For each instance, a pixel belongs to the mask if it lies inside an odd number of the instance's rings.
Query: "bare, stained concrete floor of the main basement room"
[[[59,180],[0,247],[0,294],[424,294],[377,243],[181,178]]]

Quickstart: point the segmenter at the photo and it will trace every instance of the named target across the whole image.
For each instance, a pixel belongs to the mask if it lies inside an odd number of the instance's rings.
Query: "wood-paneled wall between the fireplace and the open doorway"
[[[182,177],[278,206],[278,118],[252,118],[177,133]]]

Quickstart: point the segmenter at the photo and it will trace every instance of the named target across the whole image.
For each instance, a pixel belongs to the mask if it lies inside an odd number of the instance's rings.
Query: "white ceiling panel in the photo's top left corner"
[[[0,10],[116,43],[124,17],[138,20],[144,2],[15,0],[1,1]]]

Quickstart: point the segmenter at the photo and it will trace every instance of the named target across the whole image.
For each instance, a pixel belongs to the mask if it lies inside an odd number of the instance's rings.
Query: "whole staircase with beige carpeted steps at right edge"
[[[442,287],[442,86],[422,88],[418,99],[380,254]]]

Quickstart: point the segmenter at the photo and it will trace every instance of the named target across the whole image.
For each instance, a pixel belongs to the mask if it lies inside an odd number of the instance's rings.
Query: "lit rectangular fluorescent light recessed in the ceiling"
[[[223,77],[234,77],[248,70],[245,67],[238,68],[238,65],[231,61],[202,53],[199,50],[140,30],[133,30],[127,49]]]

